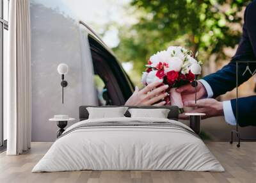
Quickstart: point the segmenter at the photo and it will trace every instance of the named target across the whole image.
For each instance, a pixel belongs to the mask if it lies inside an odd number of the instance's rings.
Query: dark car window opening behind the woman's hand
[[[132,83],[111,51],[88,35],[99,105],[124,105],[132,94]]]

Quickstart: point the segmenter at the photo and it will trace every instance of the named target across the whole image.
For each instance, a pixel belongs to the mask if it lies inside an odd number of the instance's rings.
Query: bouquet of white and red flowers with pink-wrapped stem
[[[166,104],[182,108],[180,93],[175,92],[175,88],[194,81],[195,74],[201,72],[200,64],[193,57],[192,51],[180,46],[170,46],[166,51],[157,52],[149,58],[141,81],[144,86],[155,81],[168,84],[166,92],[170,95],[164,98]]]

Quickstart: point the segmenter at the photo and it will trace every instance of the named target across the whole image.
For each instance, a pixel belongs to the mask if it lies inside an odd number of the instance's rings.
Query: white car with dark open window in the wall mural
[[[31,138],[54,141],[57,128],[55,123],[48,122],[51,116],[69,115],[78,121],[79,106],[124,105],[134,86],[113,52],[75,15],[71,6],[61,0],[31,0],[30,7]],[[61,76],[57,72],[60,63],[69,68],[64,104]]]

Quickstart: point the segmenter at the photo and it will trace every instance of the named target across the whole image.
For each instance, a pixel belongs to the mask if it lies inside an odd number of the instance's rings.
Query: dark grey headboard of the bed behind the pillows
[[[86,109],[86,107],[95,107],[95,106],[80,106],[79,107],[79,121],[82,120],[87,120],[89,113]],[[118,107],[118,106],[97,106],[97,107]],[[179,119],[179,107],[177,106],[161,106],[161,107],[156,107],[156,106],[125,106],[131,108],[140,108],[140,109],[170,109],[170,112],[168,113],[168,119],[170,120],[178,120]],[[126,117],[131,117],[131,114],[129,111],[126,111],[124,114]]]

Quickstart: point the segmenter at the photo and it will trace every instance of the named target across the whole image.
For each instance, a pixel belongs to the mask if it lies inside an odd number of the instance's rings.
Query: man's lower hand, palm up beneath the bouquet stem
[[[185,107],[196,107],[193,111],[189,111],[189,113],[205,113],[205,116],[202,116],[203,119],[211,118],[214,116],[223,116],[223,104],[215,99],[201,99],[197,100],[195,104],[195,100],[189,100],[184,102]],[[186,116],[185,113],[179,115],[179,118],[182,120],[187,120],[189,116]]]

